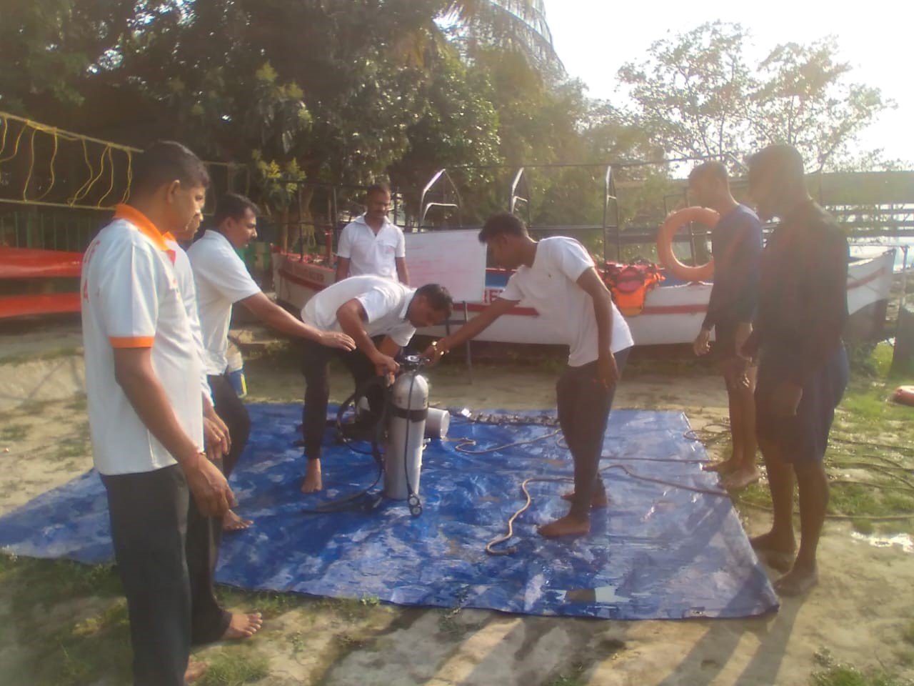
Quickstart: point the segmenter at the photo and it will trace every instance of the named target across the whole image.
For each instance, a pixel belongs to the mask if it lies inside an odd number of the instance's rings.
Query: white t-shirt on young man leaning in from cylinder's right
[[[549,326],[564,335],[571,367],[600,357],[593,298],[577,283],[580,275],[593,266],[590,254],[578,241],[564,236],[545,238],[537,243],[533,266],[518,268],[499,295],[536,308]],[[612,304],[612,352],[632,345],[628,324]]]

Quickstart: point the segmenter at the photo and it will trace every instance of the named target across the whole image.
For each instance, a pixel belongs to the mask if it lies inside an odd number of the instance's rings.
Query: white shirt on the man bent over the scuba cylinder
[[[407,318],[415,294],[415,288],[383,276],[350,276],[314,295],[302,309],[302,321],[322,331],[342,331],[336,311],[356,299],[368,316],[368,336],[389,336],[402,348],[416,333]]]

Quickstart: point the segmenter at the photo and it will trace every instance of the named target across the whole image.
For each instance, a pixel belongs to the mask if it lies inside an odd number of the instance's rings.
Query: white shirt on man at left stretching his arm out
[[[224,374],[228,368],[228,323],[231,306],[260,293],[238,253],[218,231],[207,230],[187,249],[197,284],[197,308],[207,374]]]

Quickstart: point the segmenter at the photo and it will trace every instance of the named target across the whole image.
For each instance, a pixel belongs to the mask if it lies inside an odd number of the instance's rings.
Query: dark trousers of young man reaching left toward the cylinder
[[[615,355],[620,374],[629,350]],[[606,491],[600,477],[600,456],[615,394],[616,386],[605,389],[597,380],[596,362],[566,367],[556,384],[558,423],[574,461],[574,500],[569,516],[577,520],[586,520],[594,496]]]

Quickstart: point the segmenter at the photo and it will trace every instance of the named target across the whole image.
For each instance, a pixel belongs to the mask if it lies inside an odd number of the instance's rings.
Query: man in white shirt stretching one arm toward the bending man
[[[312,340],[318,346],[351,350],[355,348],[355,343],[345,333],[324,332],[303,324],[260,291],[260,286],[251,278],[248,268],[235,252],[257,237],[257,206],[250,199],[235,193],[220,198],[214,224],[215,229],[207,230],[199,241],[190,246],[187,256],[197,284],[207,378],[213,391],[216,412],[228,424],[231,439],[223,464],[223,472],[229,477],[250,435],[250,416],[227,376],[228,325],[232,306],[240,303],[264,324],[290,336]],[[239,531],[247,529],[250,523],[250,520],[242,520],[229,510],[223,528]]]

